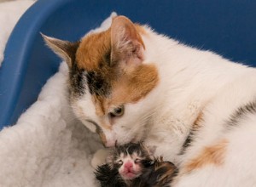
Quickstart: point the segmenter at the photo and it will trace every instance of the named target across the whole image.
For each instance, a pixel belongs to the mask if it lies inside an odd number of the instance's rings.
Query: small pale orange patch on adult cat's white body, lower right
[[[227,140],[223,140],[218,144],[205,147],[199,156],[189,161],[185,167],[185,173],[189,173],[192,170],[205,167],[209,164],[220,166],[224,163],[224,154],[228,145]]]

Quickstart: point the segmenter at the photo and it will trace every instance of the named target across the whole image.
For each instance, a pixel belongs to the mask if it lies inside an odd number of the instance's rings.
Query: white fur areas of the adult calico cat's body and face
[[[256,115],[248,114],[226,133],[224,129],[239,107],[255,101],[255,69],[144,28],[143,63],[157,66],[160,83],[146,98],[125,105],[125,115],[116,120],[113,131],[105,133],[108,143],[143,139],[145,144],[156,147],[156,156],[164,156],[183,171],[187,161],[201,150],[225,139],[228,145],[221,166],[208,164],[189,173],[181,172],[172,187],[256,186]],[[74,111],[78,108],[100,123],[88,95],[77,101]],[[181,155],[183,143],[201,113],[200,133]],[[91,124],[89,128],[96,129]]]

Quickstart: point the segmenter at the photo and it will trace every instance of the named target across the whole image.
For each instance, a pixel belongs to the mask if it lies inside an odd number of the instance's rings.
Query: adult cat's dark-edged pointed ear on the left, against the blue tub
[[[44,41],[51,48],[55,54],[58,54],[61,59],[67,62],[68,67],[72,67],[72,63],[75,60],[76,51],[79,47],[79,42],[63,41],[54,37],[47,37],[42,34]]]

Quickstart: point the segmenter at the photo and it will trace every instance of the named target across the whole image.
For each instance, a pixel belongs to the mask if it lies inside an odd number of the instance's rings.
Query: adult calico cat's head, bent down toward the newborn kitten
[[[107,31],[90,33],[79,42],[43,36],[67,61],[74,113],[91,131],[99,133],[106,146],[145,136],[153,102],[148,102],[147,96],[159,77],[153,64],[144,63],[144,32],[142,26],[117,16]]]

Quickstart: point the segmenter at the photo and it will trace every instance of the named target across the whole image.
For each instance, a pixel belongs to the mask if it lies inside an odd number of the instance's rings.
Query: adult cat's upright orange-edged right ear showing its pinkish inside
[[[111,61],[129,64],[143,62],[144,43],[136,26],[125,16],[116,16],[111,25]]]

